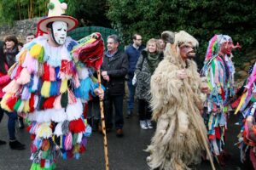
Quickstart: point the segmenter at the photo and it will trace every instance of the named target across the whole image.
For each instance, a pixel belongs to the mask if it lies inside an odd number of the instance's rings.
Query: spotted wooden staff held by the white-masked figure
[[[98,82],[99,82],[99,89],[102,90],[102,78],[101,78],[101,71],[100,70],[97,70],[97,77],[98,77]],[[108,142],[107,142],[107,133],[106,133],[105,118],[104,118],[103,99],[100,99],[100,110],[101,110],[101,119],[102,119],[102,133],[103,133],[103,143],[104,143],[105,167],[106,167],[106,170],[109,170]]]

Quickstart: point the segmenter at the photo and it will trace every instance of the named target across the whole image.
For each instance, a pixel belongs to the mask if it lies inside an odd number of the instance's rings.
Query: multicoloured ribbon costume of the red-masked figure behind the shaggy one
[[[232,41],[229,36],[215,35],[212,37],[201,72],[207,77],[208,86],[211,89],[211,94],[208,95],[205,104],[207,112],[204,117],[207,122],[211,150],[215,156],[220,155],[224,150],[229,99],[235,94],[233,87],[235,67],[231,61],[233,55],[220,56],[218,54],[221,45],[228,41]]]

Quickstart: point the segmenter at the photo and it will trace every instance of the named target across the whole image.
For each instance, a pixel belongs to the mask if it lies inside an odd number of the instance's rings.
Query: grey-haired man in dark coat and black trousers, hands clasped
[[[108,36],[108,51],[102,64],[103,85],[106,87],[104,107],[107,131],[113,127],[113,105],[115,110],[115,128],[117,136],[123,136],[123,99],[125,94],[125,75],[128,71],[128,59],[119,48],[119,37]]]

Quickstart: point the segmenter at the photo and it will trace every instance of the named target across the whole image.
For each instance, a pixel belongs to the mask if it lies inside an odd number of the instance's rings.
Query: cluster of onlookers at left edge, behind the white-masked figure
[[[27,34],[26,43],[32,41],[35,35],[32,33]],[[0,41],[0,100],[3,98],[3,88],[10,82],[8,70],[15,64],[15,56],[19,53],[23,47],[22,42],[18,42],[17,37],[9,35],[4,38],[4,41]],[[4,115],[3,109],[0,107],[0,122]],[[9,146],[14,150],[24,150],[25,144],[21,144],[15,137],[15,122],[18,120],[20,128],[24,128],[24,120],[21,116],[17,116],[16,113],[7,113],[8,118],[8,130],[9,130]],[[6,144],[5,141],[0,140],[0,144]]]

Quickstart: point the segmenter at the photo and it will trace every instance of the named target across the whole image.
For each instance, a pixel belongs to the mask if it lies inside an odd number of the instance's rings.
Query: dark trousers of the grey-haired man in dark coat
[[[122,129],[124,126],[123,116],[124,95],[105,95],[104,111],[106,116],[106,127],[113,127],[113,106],[115,111],[114,124],[116,129]]]

